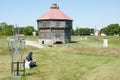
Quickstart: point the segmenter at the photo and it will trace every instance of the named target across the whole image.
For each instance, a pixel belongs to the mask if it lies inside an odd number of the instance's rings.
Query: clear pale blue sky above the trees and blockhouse
[[[120,24],[120,0],[0,0],[0,23],[34,26],[52,3],[70,16],[73,28],[103,28],[112,23]]]

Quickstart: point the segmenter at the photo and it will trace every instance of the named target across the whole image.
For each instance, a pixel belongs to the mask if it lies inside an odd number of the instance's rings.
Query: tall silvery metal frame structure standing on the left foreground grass
[[[25,74],[25,60],[22,59],[25,41],[19,37],[18,33],[14,33],[13,30],[14,38],[9,39],[8,48],[11,56],[11,74],[13,77],[21,78]]]

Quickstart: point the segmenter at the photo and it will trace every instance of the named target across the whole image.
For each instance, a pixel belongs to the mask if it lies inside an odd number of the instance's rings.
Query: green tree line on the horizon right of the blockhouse
[[[80,36],[89,36],[94,34],[94,28],[76,28],[72,29],[72,35],[80,35]],[[119,35],[120,36],[120,25],[119,24],[109,24],[106,27],[103,27],[100,30],[100,33],[106,34],[107,36]]]

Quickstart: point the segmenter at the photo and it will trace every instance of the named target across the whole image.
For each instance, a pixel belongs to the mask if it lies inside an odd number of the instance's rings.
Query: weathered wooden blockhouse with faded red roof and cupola
[[[53,3],[50,10],[37,20],[39,38],[42,44],[69,43],[71,41],[72,19]]]

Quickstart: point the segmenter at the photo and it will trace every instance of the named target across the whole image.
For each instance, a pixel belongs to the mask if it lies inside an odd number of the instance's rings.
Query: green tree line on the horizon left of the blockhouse
[[[6,22],[0,23],[0,35],[13,35],[14,33],[24,34],[24,35],[32,35],[32,32],[38,31],[34,29],[33,26],[25,26],[25,27],[14,27],[14,25],[8,25]]]

